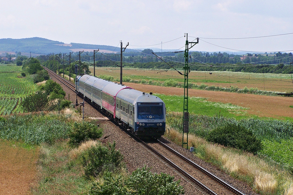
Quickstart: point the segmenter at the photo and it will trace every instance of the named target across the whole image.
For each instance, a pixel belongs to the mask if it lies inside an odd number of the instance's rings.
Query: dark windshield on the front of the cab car
[[[139,105],[137,109],[137,118],[163,119],[163,105]]]

